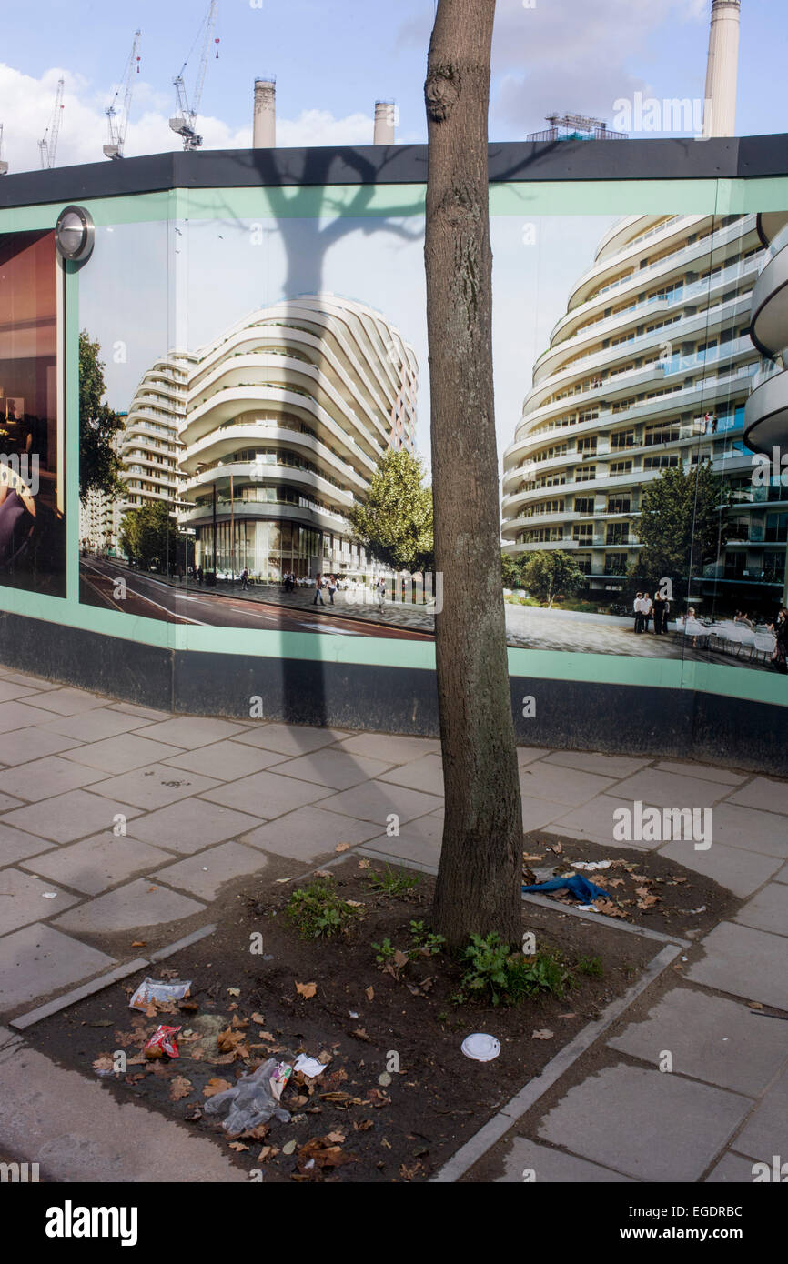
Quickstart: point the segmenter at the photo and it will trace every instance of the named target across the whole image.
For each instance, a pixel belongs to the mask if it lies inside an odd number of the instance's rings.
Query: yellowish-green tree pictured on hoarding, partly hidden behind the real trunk
[[[350,509],[350,523],[367,552],[392,570],[433,565],[433,493],[422,487],[424,466],[407,449],[378,461],[364,504]]]

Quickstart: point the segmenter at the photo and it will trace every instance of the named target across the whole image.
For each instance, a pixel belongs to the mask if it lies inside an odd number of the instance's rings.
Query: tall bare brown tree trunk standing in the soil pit
[[[506,660],[492,387],[487,110],[495,0],[439,0],[425,100],[435,618],[445,823],[435,929],[521,938],[522,822]]]

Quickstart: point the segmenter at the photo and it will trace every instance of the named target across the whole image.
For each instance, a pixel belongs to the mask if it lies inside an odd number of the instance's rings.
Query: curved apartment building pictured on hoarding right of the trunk
[[[710,460],[736,504],[725,556],[697,586],[779,595],[785,532],[756,504],[742,441],[761,260],[755,215],[629,216],[605,234],[505,454],[505,552],[563,549],[592,594],[620,588],[637,560],[644,485]]]

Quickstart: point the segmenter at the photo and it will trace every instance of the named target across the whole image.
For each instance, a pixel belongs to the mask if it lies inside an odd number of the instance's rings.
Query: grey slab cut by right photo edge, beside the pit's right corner
[[[722,921],[701,947],[706,957],[689,966],[687,978],[746,1001],[788,1010],[788,951],[783,935]]]

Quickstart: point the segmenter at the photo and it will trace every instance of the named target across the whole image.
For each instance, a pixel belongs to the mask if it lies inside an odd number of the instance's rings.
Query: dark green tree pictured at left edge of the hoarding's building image
[[[106,387],[99,343],[86,330],[80,334],[80,499],[89,492],[115,495],[123,492],[120,461],[113,439],[124,422],[102,403]]]

